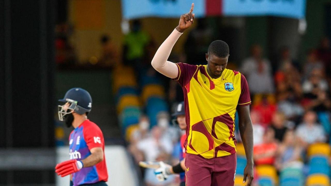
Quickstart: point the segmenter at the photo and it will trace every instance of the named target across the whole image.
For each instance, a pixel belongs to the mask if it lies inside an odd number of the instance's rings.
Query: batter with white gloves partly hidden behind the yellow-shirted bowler
[[[175,112],[172,114],[176,119],[174,123],[181,130],[186,130],[186,121],[185,121],[185,110],[184,110],[184,102],[180,102]],[[180,153],[179,153],[179,163],[177,165],[171,166],[166,163],[160,162],[160,168],[154,171],[155,176],[159,181],[165,180],[168,175],[178,173],[180,174],[180,186],[185,186],[185,147],[184,142],[186,140],[186,133],[184,133],[180,137]]]

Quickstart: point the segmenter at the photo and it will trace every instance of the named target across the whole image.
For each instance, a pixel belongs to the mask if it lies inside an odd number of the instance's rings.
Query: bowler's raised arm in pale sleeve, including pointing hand
[[[167,61],[167,59],[169,58],[172,47],[175,45],[178,38],[184,30],[189,28],[194,22],[194,14],[192,14],[193,8],[194,3],[192,3],[189,13],[180,16],[178,26],[171,32],[171,34],[156,51],[151,63],[155,70],[172,79],[178,76],[179,71],[177,65]]]

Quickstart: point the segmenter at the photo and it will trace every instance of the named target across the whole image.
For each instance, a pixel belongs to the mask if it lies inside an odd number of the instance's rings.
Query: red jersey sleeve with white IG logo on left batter
[[[84,140],[89,150],[94,147],[104,147],[104,137],[101,129],[98,126],[89,126],[84,128]]]

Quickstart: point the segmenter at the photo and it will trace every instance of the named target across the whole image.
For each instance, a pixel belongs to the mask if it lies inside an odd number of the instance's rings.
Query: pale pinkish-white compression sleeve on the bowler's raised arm
[[[176,78],[178,76],[178,67],[176,64],[167,61],[167,59],[170,55],[173,45],[175,45],[176,41],[181,35],[182,33],[174,29],[156,51],[152,60],[153,68],[170,78]]]

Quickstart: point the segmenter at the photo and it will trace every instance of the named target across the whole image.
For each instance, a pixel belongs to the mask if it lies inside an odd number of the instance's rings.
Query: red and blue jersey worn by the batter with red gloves
[[[102,131],[95,123],[86,119],[82,124],[75,128],[69,136],[69,155],[70,160],[83,160],[91,155],[90,150],[95,147],[101,147],[105,151],[105,142]],[[94,166],[83,167],[78,172],[72,174],[74,186],[81,184],[96,183],[107,181],[108,173],[106,159]]]

